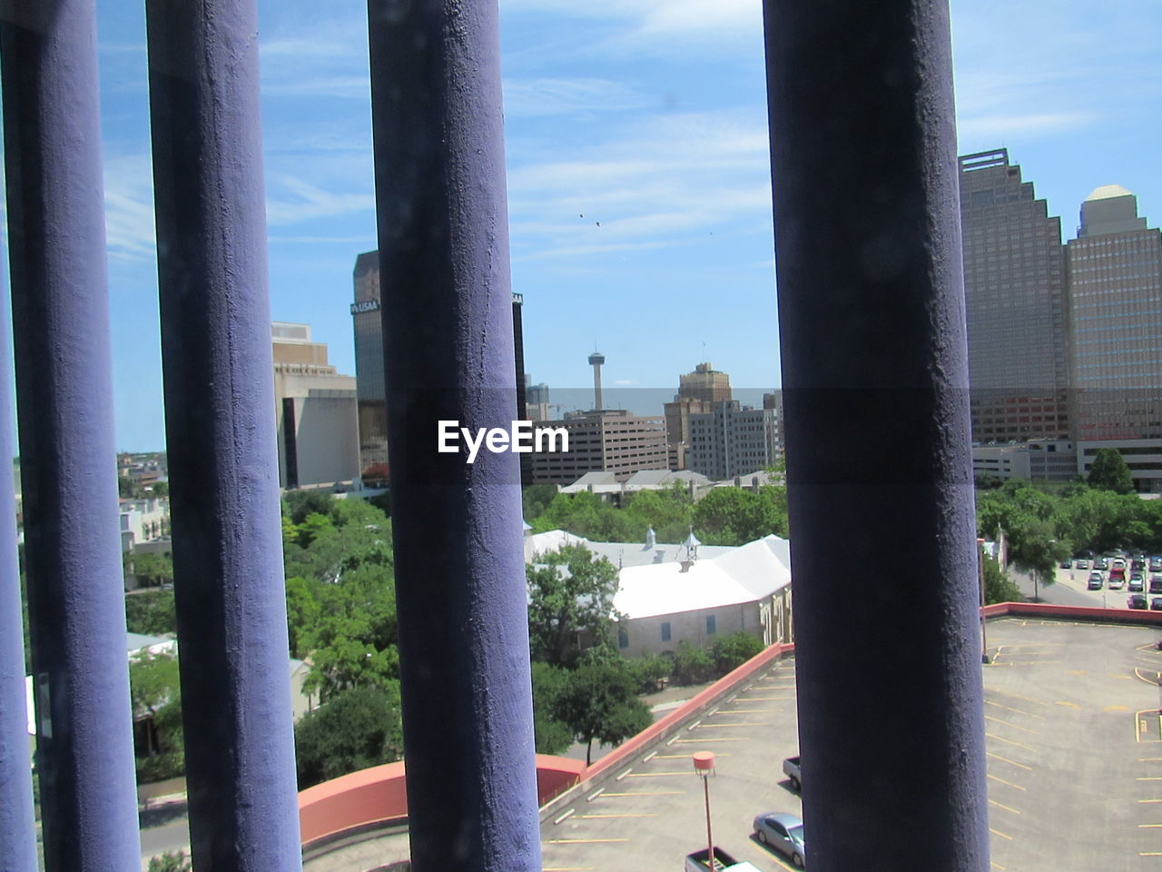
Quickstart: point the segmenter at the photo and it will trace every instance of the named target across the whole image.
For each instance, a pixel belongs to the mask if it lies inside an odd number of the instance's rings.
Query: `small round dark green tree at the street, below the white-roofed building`
[[[653,717],[638,699],[634,679],[624,663],[586,663],[568,674],[555,705],[557,720],[578,742],[586,743],[584,762],[593,762],[593,741],[617,745],[636,736]]]

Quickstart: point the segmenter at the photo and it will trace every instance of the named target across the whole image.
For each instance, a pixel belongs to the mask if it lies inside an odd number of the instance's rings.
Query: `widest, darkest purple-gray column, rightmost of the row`
[[[948,8],[765,12],[811,869],[985,872]]]

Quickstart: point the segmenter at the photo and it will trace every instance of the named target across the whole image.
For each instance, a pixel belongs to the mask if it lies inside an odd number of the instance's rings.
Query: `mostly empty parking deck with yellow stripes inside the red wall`
[[[992,869],[1162,872],[1162,652],[1149,628],[1003,619],[983,666]],[[680,870],[705,842],[691,755],[717,756],[713,841],[779,872],[753,839],[766,810],[801,815],[782,770],[797,752],[795,660],[647,749],[541,827],[546,872]],[[810,830],[810,822],[808,822]],[[810,841],[810,835],[808,837]]]

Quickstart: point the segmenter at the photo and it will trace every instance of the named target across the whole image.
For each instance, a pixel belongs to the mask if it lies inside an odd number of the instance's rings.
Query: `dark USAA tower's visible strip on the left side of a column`
[[[383,379],[383,323],[380,320],[379,252],[356,258],[356,381],[359,396],[359,473],[364,485],[387,484],[387,385]]]

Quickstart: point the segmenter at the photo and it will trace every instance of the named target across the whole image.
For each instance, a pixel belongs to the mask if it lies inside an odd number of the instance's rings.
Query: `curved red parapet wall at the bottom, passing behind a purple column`
[[[575,785],[583,771],[583,760],[538,753],[538,805]],[[352,772],[308,787],[299,794],[299,825],[304,845],[361,827],[406,821],[407,817],[408,793],[402,762]]]

